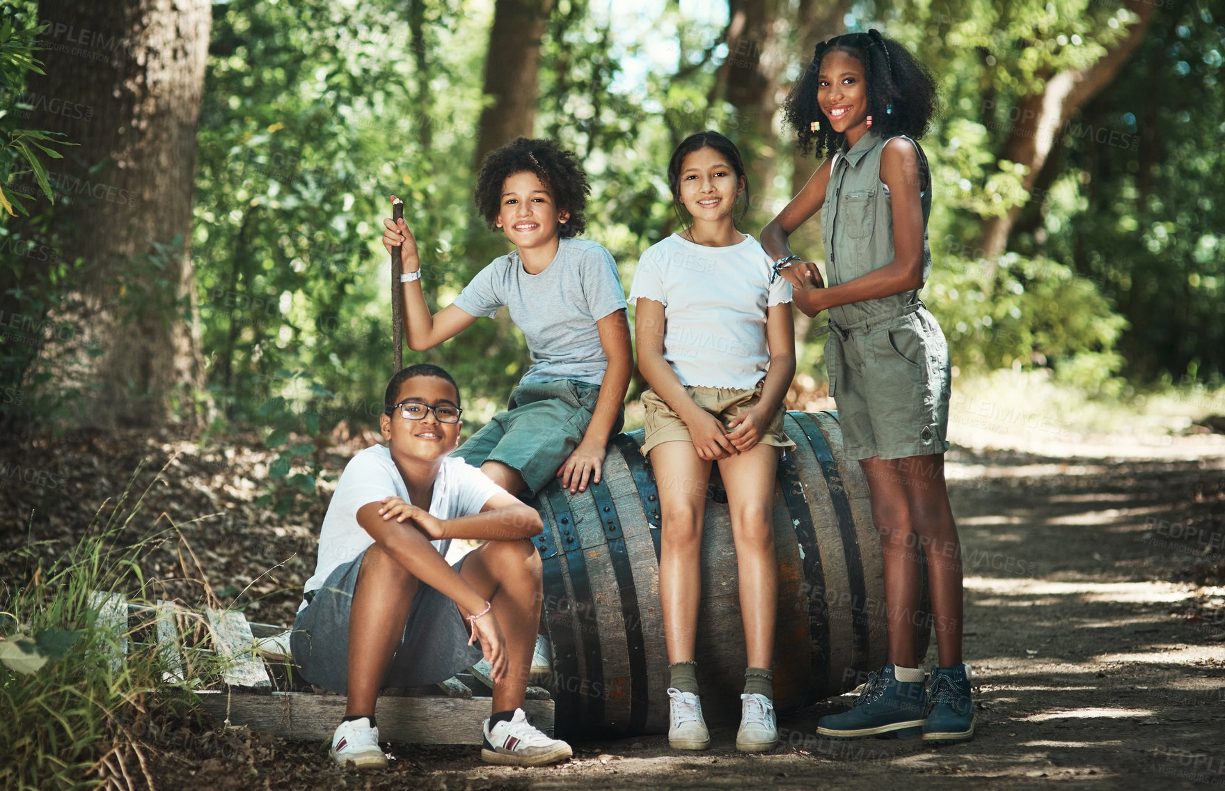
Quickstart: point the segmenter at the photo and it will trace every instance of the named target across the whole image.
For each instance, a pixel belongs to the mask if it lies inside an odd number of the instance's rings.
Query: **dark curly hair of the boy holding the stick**
[[[473,200],[477,211],[485,218],[489,229],[497,227],[497,212],[502,207],[502,184],[516,173],[535,173],[545,188],[552,193],[559,211],[570,212],[570,220],[557,223],[557,235],[562,239],[577,237],[587,229],[587,195],[592,191],[587,174],[579,167],[573,151],[564,151],[551,140],[518,137],[501,148],[490,151],[477,175]]]

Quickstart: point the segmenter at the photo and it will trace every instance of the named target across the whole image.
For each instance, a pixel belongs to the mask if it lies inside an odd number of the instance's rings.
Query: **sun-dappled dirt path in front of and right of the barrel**
[[[485,766],[474,749],[404,748],[403,759],[434,789],[1225,786],[1225,587],[1213,576],[1225,563],[1225,457],[960,451],[949,466],[971,743],[817,739],[817,719],[848,695],[783,717],[784,744],[764,757],[736,754],[724,728],[708,753],[636,738],[584,744],[550,769]]]

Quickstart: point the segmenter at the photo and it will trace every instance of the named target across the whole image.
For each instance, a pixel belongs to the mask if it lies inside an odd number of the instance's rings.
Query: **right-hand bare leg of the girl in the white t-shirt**
[[[731,535],[740,575],[740,618],[750,667],[769,667],[778,618],[778,559],[774,554],[774,472],[778,448],[755,445],[719,460],[728,486]],[[662,575],[660,575],[662,576]]]

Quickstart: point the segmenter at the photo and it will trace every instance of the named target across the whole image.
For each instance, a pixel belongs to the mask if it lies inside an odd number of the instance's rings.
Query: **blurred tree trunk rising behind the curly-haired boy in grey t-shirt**
[[[539,93],[540,39],[552,0],[497,0],[485,60],[485,96],[480,113],[477,167],[494,148],[532,136]]]

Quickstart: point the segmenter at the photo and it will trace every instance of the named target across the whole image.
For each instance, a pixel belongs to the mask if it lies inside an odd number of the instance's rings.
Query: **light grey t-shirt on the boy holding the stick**
[[[608,369],[595,323],[626,307],[612,255],[595,242],[560,239],[539,275],[523,269],[518,250],[480,270],[454,305],[490,319],[502,305],[523,331],[532,368],[519,384],[575,379],[598,385]]]

